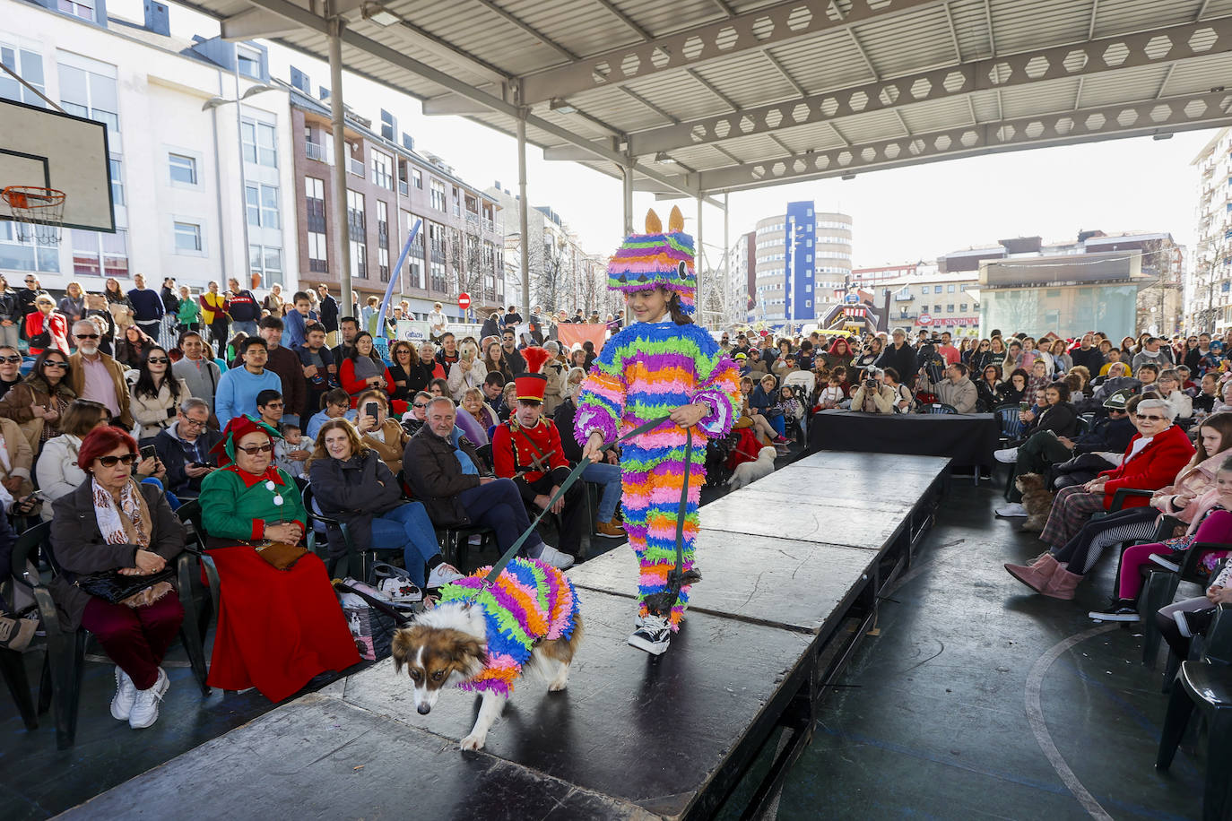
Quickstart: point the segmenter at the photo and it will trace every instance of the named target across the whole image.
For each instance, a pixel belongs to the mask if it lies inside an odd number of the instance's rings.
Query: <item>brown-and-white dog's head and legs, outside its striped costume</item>
[[[533,670],[548,681],[548,692],[563,691],[569,683],[569,665],[582,644],[582,615],[574,618],[568,639],[545,639],[535,645],[521,673]],[[428,715],[446,687],[476,679],[488,667],[488,625],[478,603],[446,602],[419,615],[410,627],[393,636],[394,672],[407,667],[414,684],[415,710]],[[510,689],[513,682],[510,682]],[[462,739],[462,750],[482,750],[488,730],[500,718],[509,697],[493,689],[483,691],[483,703],[471,735]]]

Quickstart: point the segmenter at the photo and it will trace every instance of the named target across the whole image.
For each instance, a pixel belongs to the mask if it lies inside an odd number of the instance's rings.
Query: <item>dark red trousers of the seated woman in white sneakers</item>
[[[154,687],[159,665],[181,622],[184,606],[175,592],[145,607],[112,604],[95,596],[81,614],[81,627],[94,634],[137,689]]]

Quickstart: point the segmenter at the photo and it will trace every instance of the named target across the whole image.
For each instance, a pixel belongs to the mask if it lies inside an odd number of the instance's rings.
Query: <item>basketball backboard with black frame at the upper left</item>
[[[84,117],[0,100],[0,188],[67,194],[64,226],[113,233],[107,127]],[[11,219],[0,209],[0,219]]]

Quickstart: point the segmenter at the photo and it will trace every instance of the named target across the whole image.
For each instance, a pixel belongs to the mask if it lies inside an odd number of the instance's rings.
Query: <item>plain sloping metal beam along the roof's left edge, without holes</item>
[[[307,9],[302,9],[301,6],[290,2],[288,0],[251,0],[251,2],[255,6],[267,9],[269,11],[272,11],[274,14],[281,17],[286,17],[287,20],[291,20],[304,28],[309,28],[312,31],[315,31],[325,36],[329,36],[330,33],[329,21],[326,21],[324,17],[319,17],[312,14]],[[479,91],[478,89],[474,89],[467,85],[466,82],[462,82],[457,78],[453,78],[446,74],[445,71],[441,71],[440,69],[435,69],[431,65],[420,63],[413,57],[408,57],[407,54],[403,54],[395,50],[394,48],[386,46],[384,43],[370,39],[351,28],[342,30],[341,39],[345,46],[359,49],[366,54],[371,54],[372,57],[384,60],[386,63],[395,65],[405,71],[411,71],[414,74],[418,74],[425,80],[429,80],[430,82],[435,82],[436,85],[444,89],[448,89],[450,91],[462,97],[466,97],[467,100],[483,105],[489,111],[506,114],[509,117],[519,117],[525,114],[527,126],[537,128],[541,132],[546,132],[563,143],[569,143],[572,145],[578,145],[584,148],[586,151],[589,151],[591,159],[607,160],[610,162],[615,162],[616,165],[625,165],[628,160],[626,155],[621,154],[620,151],[612,149],[609,145],[605,145],[600,142],[588,140],[583,137],[579,137],[578,134],[574,134],[567,128],[557,126],[556,123],[548,122],[531,113],[525,113],[517,106],[506,102],[500,97],[487,94],[485,91]],[[679,191],[683,196],[697,197],[700,193],[697,191],[696,185],[691,185],[689,183],[687,180],[684,180],[681,177],[675,177],[675,176],[669,177],[667,175],[659,174],[658,171],[653,171],[650,169],[647,169],[646,166],[636,164],[633,166],[633,170],[643,176],[650,177],[652,180],[657,180],[658,182],[662,182],[663,185]],[[717,204],[717,201],[713,201],[713,204]]]

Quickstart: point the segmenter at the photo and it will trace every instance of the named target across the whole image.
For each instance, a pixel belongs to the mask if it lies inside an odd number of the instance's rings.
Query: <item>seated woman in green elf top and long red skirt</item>
[[[230,420],[214,448],[219,469],[201,481],[200,496],[221,582],[208,683],[256,687],[271,702],[360,661],[322,560],[308,553],[277,570],[254,547],[299,544],[308,521],[294,480],[271,467],[277,436],[248,416]]]

